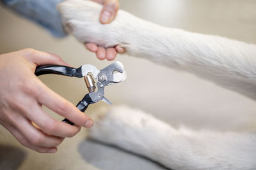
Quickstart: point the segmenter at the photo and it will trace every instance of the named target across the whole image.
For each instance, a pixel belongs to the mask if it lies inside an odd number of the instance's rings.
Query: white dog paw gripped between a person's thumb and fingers
[[[129,45],[128,37],[134,32],[136,17],[119,10],[111,24],[100,24],[102,5],[92,1],[67,0],[58,4],[63,24],[82,43],[99,46]]]

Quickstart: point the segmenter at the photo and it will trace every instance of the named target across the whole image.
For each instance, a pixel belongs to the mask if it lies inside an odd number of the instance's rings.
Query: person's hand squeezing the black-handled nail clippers
[[[68,66],[58,55],[24,49],[0,55],[0,124],[20,144],[40,153],[54,153],[64,138],[81,126],[92,127],[91,118],[49,89],[35,76],[36,66]],[[76,125],[55,120],[42,105]]]

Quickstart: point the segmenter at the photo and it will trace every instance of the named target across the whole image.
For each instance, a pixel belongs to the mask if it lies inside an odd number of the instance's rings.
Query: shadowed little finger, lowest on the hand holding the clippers
[[[14,136],[14,138],[17,139],[17,141],[19,141],[21,145],[31,150],[35,150],[36,152],[40,152],[40,153],[55,153],[58,150],[56,146],[43,147],[43,146],[32,145],[31,143],[28,142],[26,138],[24,138],[24,136],[19,132],[17,128],[13,127],[12,125],[6,125],[6,124],[3,124],[3,126]]]

